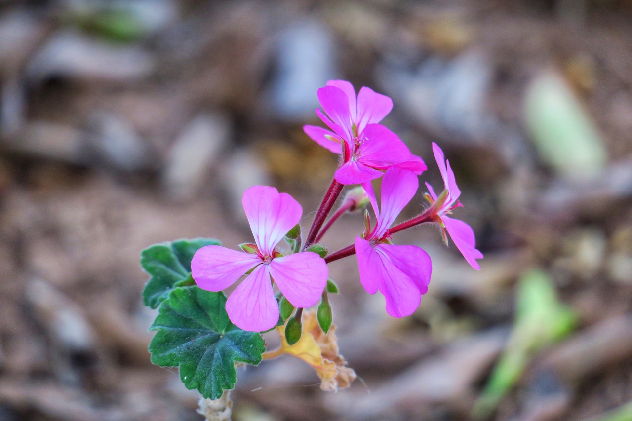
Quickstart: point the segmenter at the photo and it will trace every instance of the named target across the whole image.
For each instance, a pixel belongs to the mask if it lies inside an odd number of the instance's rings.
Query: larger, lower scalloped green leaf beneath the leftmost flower
[[[150,331],[157,331],[149,344],[152,362],[179,367],[188,389],[219,399],[236,381],[234,362],[261,362],[264,339],[244,331],[226,314],[226,296],[197,286],[176,288],[162,302]]]

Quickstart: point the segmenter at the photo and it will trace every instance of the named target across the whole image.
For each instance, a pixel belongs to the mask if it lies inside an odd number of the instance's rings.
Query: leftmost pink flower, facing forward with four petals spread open
[[[287,193],[269,186],[253,186],[243,193],[243,209],[256,247],[252,253],[210,245],[200,248],[191,261],[191,275],[200,288],[221,291],[250,271],[226,302],[231,321],[246,331],[265,331],[279,320],[272,279],[295,307],[318,302],[327,285],[327,264],[317,253],[282,256],[274,248],[301,219],[303,209]]]

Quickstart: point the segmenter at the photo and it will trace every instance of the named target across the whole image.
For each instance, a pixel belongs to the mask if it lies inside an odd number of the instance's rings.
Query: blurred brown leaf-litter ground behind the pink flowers
[[[441,145],[482,270],[436,227],[399,233],[434,273],[392,319],[355,257],[332,263],[360,379],[324,393],[300,360],[264,362],[234,418],[632,420],[626,0],[0,0],[0,420],[201,419],[150,363],[140,250],[252,241],[253,184],[307,229],[336,157],[301,126],[332,78],[392,97],[384,124],[435,190]]]

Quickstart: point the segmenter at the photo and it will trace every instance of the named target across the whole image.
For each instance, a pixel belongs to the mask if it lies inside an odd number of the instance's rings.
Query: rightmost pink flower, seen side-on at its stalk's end
[[[435,207],[435,220],[441,224],[444,240],[447,241],[445,229],[452,238],[452,241],[454,241],[454,245],[456,245],[461,254],[463,254],[463,257],[465,257],[465,260],[467,260],[471,267],[480,271],[480,266],[476,259],[482,259],[483,253],[479,252],[475,247],[476,240],[474,238],[473,229],[463,221],[448,216],[452,214],[452,210],[455,207],[463,206],[461,202],[458,201],[461,191],[458,186],[456,186],[454,173],[452,168],[450,168],[450,162],[446,160],[443,151],[437,143],[432,142],[432,152],[434,152],[445,185],[444,192],[441,193],[441,196],[437,197],[434,190],[432,190],[432,186],[426,183],[430,197],[434,202],[432,206]]]

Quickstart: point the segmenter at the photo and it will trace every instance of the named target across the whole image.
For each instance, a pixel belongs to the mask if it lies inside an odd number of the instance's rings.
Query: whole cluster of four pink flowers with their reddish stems
[[[362,286],[370,294],[380,291],[384,295],[386,312],[393,317],[412,314],[428,290],[432,262],[422,248],[394,245],[391,237],[422,223],[438,223],[444,241],[447,243],[447,231],[467,262],[480,269],[476,260],[483,255],[475,247],[473,230],[450,216],[462,205],[454,173],[441,148],[432,144],[444,190],[437,195],[426,183],[425,197],[430,205],[413,219],[392,226],[415,196],[418,176],[427,167],[420,157],[411,154],[398,135],[380,124],[392,109],[391,99],[367,87],[356,96],[351,83],[343,80],[327,82],[327,86],[319,89],[318,97],[324,113],[317,109],[316,114],[328,129],[320,126],[303,129],[319,145],[339,154],[340,160],[307,238],[293,236],[288,240],[292,247],[283,250],[285,255],[277,250],[279,242],[300,221],[301,206],[276,188],[253,186],[244,193],[242,203],[255,243],[241,245],[242,252],[210,245],[198,250],[191,262],[193,279],[204,290],[224,290],[247,274],[226,302],[229,318],[241,329],[265,331],[277,325],[279,303],[274,284],[294,307],[311,307],[321,296],[326,299],[327,264],[353,254],[357,255]],[[380,177],[378,204],[372,180]],[[362,185],[365,193],[358,195],[357,188],[349,192],[339,210],[323,226],[345,185]],[[318,251],[314,248],[315,241],[320,240],[337,217],[357,209],[366,202],[365,198],[375,214],[373,227],[365,211],[365,227],[355,243],[324,256],[310,251]]]

